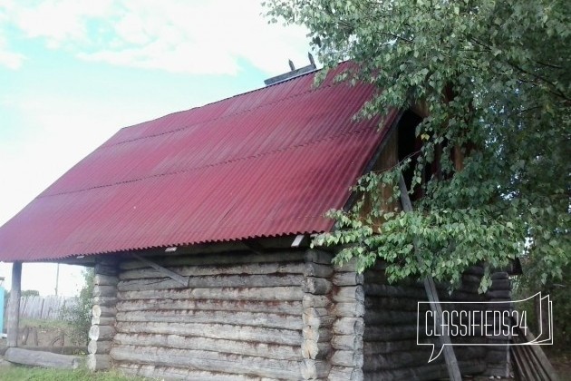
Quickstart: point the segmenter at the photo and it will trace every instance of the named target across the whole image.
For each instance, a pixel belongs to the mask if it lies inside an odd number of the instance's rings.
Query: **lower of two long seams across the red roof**
[[[109,183],[109,184],[97,185],[97,186],[92,186],[92,187],[89,187],[89,188],[82,188],[82,189],[79,189],[79,190],[61,191],[61,192],[57,192],[57,193],[48,193],[48,194],[44,194],[44,192],[43,192],[43,193],[41,193],[40,195],[38,195],[38,196],[36,197],[36,199],[43,199],[43,198],[46,198],[46,197],[53,197],[53,196],[61,196],[61,195],[63,195],[63,194],[79,193],[79,192],[86,191],[86,190],[94,190],[94,189],[100,189],[100,188],[113,187],[113,186],[115,186],[115,185],[127,184],[127,183],[130,183],[130,182],[143,181],[143,180],[158,178],[158,177],[162,177],[162,176],[171,176],[171,175],[176,175],[176,174],[179,174],[179,173],[184,173],[184,172],[189,172],[189,171],[197,171],[197,170],[201,170],[201,169],[203,169],[203,168],[216,167],[216,166],[218,166],[218,165],[224,165],[224,164],[231,163],[231,162],[246,161],[246,160],[250,160],[250,159],[259,158],[259,157],[262,157],[262,156],[273,155],[273,154],[276,154],[276,153],[279,153],[279,152],[283,152],[283,151],[295,150],[295,149],[297,149],[297,148],[305,147],[305,146],[308,146],[308,145],[311,145],[311,144],[316,144],[316,143],[319,143],[319,142],[325,142],[325,141],[334,140],[334,139],[337,139],[337,138],[340,138],[340,137],[346,136],[346,135],[352,135],[352,134],[361,133],[361,132],[363,132],[363,131],[365,131],[365,130],[367,130],[367,129],[369,129],[369,127],[368,127],[368,126],[364,126],[364,127],[360,128],[360,129],[357,129],[357,130],[348,131],[348,132],[342,132],[342,133],[338,133],[338,134],[334,134],[334,135],[330,135],[330,136],[325,136],[324,138],[316,139],[315,141],[303,142],[303,143],[300,143],[300,144],[290,145],[290,146],[287,146],[287,147],[285,147],[285,148],[281,148],[281,149],[277,149],[277,150],[273,150],[273,151],[266,151],[266,152],[258,153],[258,154],[256,154],[256,155],[249,155],[249,156],[246,156],[246,157],[231,159],[231,160],[227,160],[227,161],[218,161],[218,162],[215,162],[215,163],[210,163],[210,164],[202,165],[202,166],[198,166],[198,167],[187,168],[187,169],[180,170],[180,171],[171,171],[171,172],[165,172],[165,173],[157,173],[157,174],[153,174],[153,175],[146,176],[146,177],[140,177],[140,178],[137,178],[137,179],[131,179],[131,180],[125,180],[125,181],[117,181],[117,182],[112,182],[112,183]]]

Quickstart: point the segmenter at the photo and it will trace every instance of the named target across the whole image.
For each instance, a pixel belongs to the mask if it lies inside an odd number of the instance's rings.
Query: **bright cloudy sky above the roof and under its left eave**
[[[2,0],[0,225],[121,127],[308,64],[305,29],[268,24],[259,2]],[[59,294],[81,273],[60,266]],[[9,289],[10,264],[0,277]],[[22,289],[55,286],[56,265],[24,263]]]

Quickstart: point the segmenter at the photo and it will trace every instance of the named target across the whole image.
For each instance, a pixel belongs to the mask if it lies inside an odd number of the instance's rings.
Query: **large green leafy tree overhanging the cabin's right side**
[[[431,275],[457,284],[472,264],[520,257],[546,284],[569,264],[571,114],[565,0],[270,0],[276,22],[304,24],[325,69],[355,65],[340,80],[373,83],[371,118],[421,105],[414,160],[364,176],[362,198],[334,210],[338,230],[317,244],[346,245],[336,260],[363,270],[389,263],[391,280]],[[458,147],[463,168],[453,165]],[[441,154],[439,150],[441,150]],[[424,171],[438,161],[440,175]],[[382,210],[380,184],[413,171],[415,211]],[[368,199],[368,200],[367,200]],[[363,217],[363,205],[376,206]],[[381,224],[375,221],[382,220]],[[414,244],[414,245],[413,245]],[[417,248],[421,261],[414,254]],[[484,277],[481,290],[489,286]]]

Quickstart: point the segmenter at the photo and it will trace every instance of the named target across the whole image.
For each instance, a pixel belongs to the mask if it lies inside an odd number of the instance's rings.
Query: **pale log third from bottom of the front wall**
[[[243,356],[275,358],[280,360],[301,360],[297,346],[277,345],[251,341],[225,340],[208,337],[157,334],[122,334],[113,339],[115,345],[137,347],[169,347],[177,349],[206,350],[232,353]]]

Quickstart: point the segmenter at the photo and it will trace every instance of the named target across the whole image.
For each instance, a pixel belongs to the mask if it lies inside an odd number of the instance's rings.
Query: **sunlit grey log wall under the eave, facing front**
[[[301,249],[123,259],[113,366],[181,379],[321,376],[328,343],[326,269]]]

